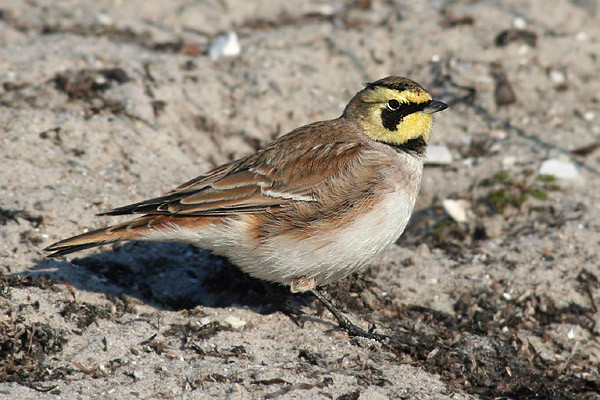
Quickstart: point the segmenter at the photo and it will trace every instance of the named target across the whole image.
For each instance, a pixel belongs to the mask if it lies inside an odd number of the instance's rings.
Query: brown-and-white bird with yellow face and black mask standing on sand
[[[310,292],[352,336],[319,288],[365,269],[406,228],[432,114],[448,105],[400,76],[365,83],[336,119],[281,136],[166,194],[98,215],[137,218],[61,240],[56,257],[124,240],[190,243],[252,277]]]

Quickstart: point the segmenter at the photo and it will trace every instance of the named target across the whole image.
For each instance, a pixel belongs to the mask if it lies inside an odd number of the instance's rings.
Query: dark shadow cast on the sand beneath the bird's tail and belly
[[[243,273],[228,260],[180,243],[129,242],[64,259],[38,259],[29,272],[76,290],[138,298],[159,309],[244,307],[287,312],[312,299]]]

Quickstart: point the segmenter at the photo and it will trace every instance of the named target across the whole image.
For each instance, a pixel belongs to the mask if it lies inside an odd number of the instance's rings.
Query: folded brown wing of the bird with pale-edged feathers
[[[297,143],[294,146],[293,143]],[[364,145],[323,143],[307,147],[294,140],[223,165],[166,195],[101,215],[145,214],[228,216],[286,207],[293,202],[318,202],[324,182],[353,164]]]

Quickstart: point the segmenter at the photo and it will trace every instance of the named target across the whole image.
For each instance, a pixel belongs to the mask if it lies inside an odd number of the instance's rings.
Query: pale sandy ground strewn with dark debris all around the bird
[[[549,4],[0,2],[0,397],[600,398],[600,14]],[[208,57],[229,31],[240,54]],[[387,75],[451,104],[432,143],[453,161],[329,288],[385,344],[191,246],[45,258]]]

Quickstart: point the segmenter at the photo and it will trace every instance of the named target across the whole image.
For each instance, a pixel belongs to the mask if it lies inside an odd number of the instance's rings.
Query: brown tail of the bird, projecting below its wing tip
[[[156,217],[141,217],[123,224],[82,233],[56,242],[44,250],[51,252],[48,257],[58,257],[103,244],[140,239],[142,233],[154,225],[155,219]]]

